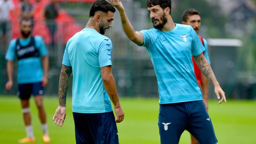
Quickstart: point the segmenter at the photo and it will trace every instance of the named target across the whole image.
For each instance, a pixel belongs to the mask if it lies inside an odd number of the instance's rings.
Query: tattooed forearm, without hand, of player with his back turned
[[[59,82],[59,105],[66,106],[69,77],[72,74],[72,67],[62,65]]]

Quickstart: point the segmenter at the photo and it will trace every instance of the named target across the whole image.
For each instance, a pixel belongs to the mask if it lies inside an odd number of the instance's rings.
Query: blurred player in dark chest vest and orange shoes
[[[6,89],[13,85],[13,62],[18,59],[18,96],[21,100],[22,113],[25,122],[27,137],[18,140],[19,143],[35,142],[31,126],[29,108],[30,95],[34,95],[39,118],[42,124],[43,141],[50,142],[46,124],[46,112],[43,106],[44,87],[48,83],[49,58],[48,50],[41,36],[31,36],[32,22],[29,19],[20,20],[20,38],[10,42],[5,59],[7,61],[8,82]],[[42,60],[42,64],[41,64]],[[43,69],[42,69],[43,67]]]

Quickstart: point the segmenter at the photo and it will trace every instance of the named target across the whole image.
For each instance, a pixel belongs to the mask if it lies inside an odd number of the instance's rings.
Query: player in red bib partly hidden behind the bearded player
[[[186,24],[186,25],[190,25],[192,26],[192,28],[196,31],[196,33],[198,34],[199,32],[199,28],[201,26],[201,17],[200,14],[197,10],[195,9],[187,9],[183,12],[182,14],[182,24]],[[207,42],[204,38],[202,38],[201,36],[199,36],[200,41],[202,42],[205,50],[203,52],[204,57],[206,58],[206,60],[208,60],[209,64],[210,64],[210,58],[209,58],[209,54],[208,54],[208,45]],[[193,61],[193,65],[194,65],[194,72],[196,75],[196,80],[197,83],[200,87],[200,85],[202,86],[202,91],[203,91],[203,102],[205,104],[205,108],[208,112],[208,79],[206,78],[206,76],[204,76],[204,74],[200,71],[200,69],[198,68],[194,58],[192,58]],[[199,144],[197,142],[197,140],[192,136],[191,136],[191,143],[190,144]]]

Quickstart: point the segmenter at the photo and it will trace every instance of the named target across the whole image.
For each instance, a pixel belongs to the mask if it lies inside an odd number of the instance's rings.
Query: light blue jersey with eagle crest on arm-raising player
[[[170,31],[152,28],[140,31],[154,65],[160,104],[202,100],[192,56],[205,48],[191,26],[176,24]]]

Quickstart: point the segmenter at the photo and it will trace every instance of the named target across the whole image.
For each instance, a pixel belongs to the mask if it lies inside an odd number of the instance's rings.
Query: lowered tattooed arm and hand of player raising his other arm
[[[197,56],[193,56],[194,60],[196,61],[196,64],[200,68],[201,72],[212,82],[212,84],[215,87],[215,94],[217,95],[217,98],[220,99],[220,96],[222,96],[221,100],[218,104],[222,103],[223,101],[226,102],[225,92],[220,88],[220,84],[216,80],[216,77],[212,71],[212,67],[210,66],[209,62],[204,57],[204,54],[199,54]]]

